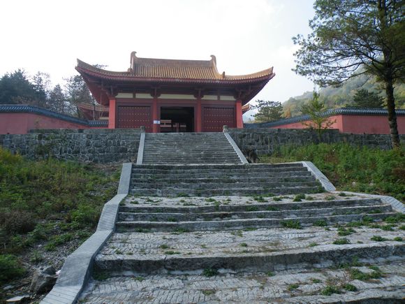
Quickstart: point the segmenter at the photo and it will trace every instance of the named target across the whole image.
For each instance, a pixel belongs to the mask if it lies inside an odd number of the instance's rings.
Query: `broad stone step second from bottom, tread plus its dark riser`
[[[96,256],[96,269],[120,274],[192,273],[205,268],[235,271],[274,271],[325,268],[353,260],[399,259],[405,254],[402,230],[357,229],[341,240],[338,229],[257,229],[249,231],[179,231],[177,234],[115,233]],[[373,240],[384,236],[384,241]]]

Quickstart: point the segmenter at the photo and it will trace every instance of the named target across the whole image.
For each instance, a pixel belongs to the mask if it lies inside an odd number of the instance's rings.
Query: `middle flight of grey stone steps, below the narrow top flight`
[[[323,191],[301,163],[274,165],[133,166],[130,194],[217,196]]]

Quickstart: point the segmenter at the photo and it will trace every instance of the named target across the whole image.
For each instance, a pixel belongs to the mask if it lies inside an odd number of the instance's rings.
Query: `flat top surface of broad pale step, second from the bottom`
[[[405,246],[394,241],[405,239],[405,231],[393,228],[383,231],[368,227],[355,228],[355,233],[344,236],[348,245],[334,245],[343,238],[334,227],[308,227],[304,229],[256,229],[240,231],[195,231],[186,233],[115,233],[96,257],[102,261],[192,259],[233,256],[274,256],[277,254],[302,254],[303,252],[327,252],[348,248],[377,248],[381,246]],[[384,242],[371,240],[383,236]],[[316,244],[316,245],[314,245]],[[176,254],[168,254],[168,251]]]

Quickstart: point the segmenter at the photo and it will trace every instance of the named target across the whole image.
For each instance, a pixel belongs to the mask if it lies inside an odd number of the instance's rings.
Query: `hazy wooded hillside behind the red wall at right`
[[[321,101],[325,101],[327,108],[342,108],[353,104],[353,96],[358,89],[367,89],[370,92],[378,92],[385,97],[385,92],[380,83],[374,78],[360,75],[348,80],[341,87],[325,87],[320,93]],[[405,84],[395,86],[395,104],[397,108],[405,108]],[[291,116],[301,115],[300,107],[303,103],[312,99],[312,92],[304,92],[300,96],[291,97],[283,103],[284,113],[290,110]]]

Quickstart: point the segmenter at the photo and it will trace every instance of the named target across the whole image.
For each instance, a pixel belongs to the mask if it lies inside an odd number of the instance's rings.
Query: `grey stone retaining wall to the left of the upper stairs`
[[[28,134],[7,134],[3,147],[31,159],[54,157],[109,163],[136,161],[139,129],[36,130]]]

